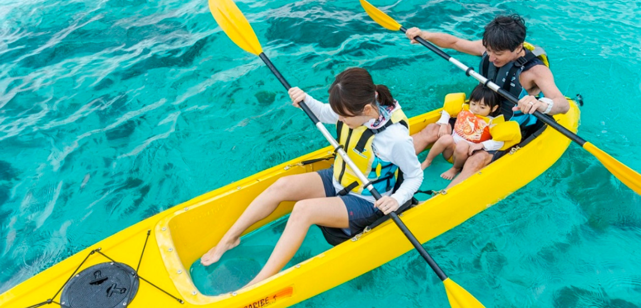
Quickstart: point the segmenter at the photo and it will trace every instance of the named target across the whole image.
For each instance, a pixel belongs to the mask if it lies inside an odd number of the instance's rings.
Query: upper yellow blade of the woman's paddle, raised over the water
[[[221,26],[222,31],[238,45],[238,47],[258,56],[263,52],[260,42],[249,22],[242,15],[236,3],[231,0],[209,0],[209,10],[213,19]]]

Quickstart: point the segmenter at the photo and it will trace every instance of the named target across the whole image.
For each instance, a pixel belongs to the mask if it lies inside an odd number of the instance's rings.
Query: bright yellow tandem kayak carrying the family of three
[[[415,134],[437,121],[439,112],[410,119],[410,132]],[[570,111],[554,119],[576,132],[579,109],[570,101]],[[401,219],[421,243],[427,242],[537,178],[561,157],[569,143],[567,137],[547,127],[526,146],[512,150],[447,192],[410,208]],[[314,151],[142,220],[6,291],[0,295],[0,304],[6,308],[39,307],[50,300],[51,304],[72,308],[287,307],[412,249],[388,220],[248,288],[208,296],[194,286],[189,271],[192,263],[219,241],[255,196],[281,176],[330,167],[332,160],[301,162],[332,154],[329,147]],[[487,190],[487,183],[501,183],[497,186],[501,189]],[[247,232],[287,215],[293,206],[292,202],[281,204]],[[143,247],[146,249],[141,259]],[[99,304],[101,301],[104,303]]]

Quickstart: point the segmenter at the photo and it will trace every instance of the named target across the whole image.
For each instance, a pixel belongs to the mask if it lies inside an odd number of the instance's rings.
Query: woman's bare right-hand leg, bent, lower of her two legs
[[[267,279],[283,269],[301,247],[308,229],[313,224],[326,227],[349,227],[347,208],[342,199],[326,197],[297,202],[269,260],[246,286]]]

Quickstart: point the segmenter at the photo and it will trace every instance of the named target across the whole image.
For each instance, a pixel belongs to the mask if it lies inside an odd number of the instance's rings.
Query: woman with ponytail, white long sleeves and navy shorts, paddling
[[[247,286],[278,273],[313,224],[355,235],[410,200],[423,179],[401,106],[386,86],[374,84],[367,70],[349,68],[339,73],[329,88],[329,104],[299,88],[290,89],[289,95],[294,106],[304,100],[321,122],[337,125],[338,142],[383,197],[376,201],[363,189],[363,183],[340,157],[332,168],[279,178],[201,258],[205,266],[219,261],[224,252],[240,243],[247,228],[274,212],[281,202],[297,201],[267,263]],[[399,170],[404,181],[392,193]]]

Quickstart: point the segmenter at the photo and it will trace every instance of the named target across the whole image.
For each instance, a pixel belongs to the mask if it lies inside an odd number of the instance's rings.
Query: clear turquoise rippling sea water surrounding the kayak
[[[561,91],[585,98],[580,135],[641,171],[638,1],[373,3],[405,26],[468,38],[497,13],[521,13]],[[238,5],[288,81],[317,98],[357,65],[409,116],[474,84],[374,24],[358,1]],[[325,145],[260,59],[221,32],[206,1],[4,0],[0,23],[0,291]],[[641,198],[574,145],[425,247],[487,307],[641,306]],[[446,305],[438,278],[408,252],[297,307]]]

